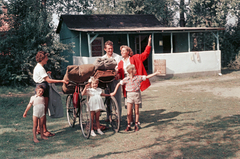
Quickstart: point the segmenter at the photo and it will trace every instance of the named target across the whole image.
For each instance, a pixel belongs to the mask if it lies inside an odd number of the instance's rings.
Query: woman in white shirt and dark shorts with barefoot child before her
[[[33,105],[33,141],[38,143],[39,140],[36,134],[41,134],[42,139],[47,139],[47,137],[54,136],[55,134],[49,132],[46,126],[46,113],[48,110],[49,101],[49,85],[48,83],[65,83],[65,80],[55,80],[48,76],[50,71],[46,72],[44,65],[48,61],[48,53],[45,51],[39,51],[36,55],[37,65],[33,70],[33,80],[36,83],[35,95],[31,97],[29,104],[23,114],[25,118],[27,116],[28,110]]]

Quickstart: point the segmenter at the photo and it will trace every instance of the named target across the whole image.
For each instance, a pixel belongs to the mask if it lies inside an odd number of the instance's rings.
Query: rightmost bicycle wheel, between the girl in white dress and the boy
[[[107,111],[109,112],[109,121],[113,131],[118,132],[120,129],[120,113],[118,109],[117,100],[115,97],[106,99]]]

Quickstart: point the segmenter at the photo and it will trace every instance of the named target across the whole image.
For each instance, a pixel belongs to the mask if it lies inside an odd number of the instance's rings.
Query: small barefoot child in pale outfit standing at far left
[[[27,112],[33,105],[33,141],[35,143],[38,143],[39,140],[37,139],[36,136],[36,130],[38,126],[38,120],[39,120],[39,127],[40,127],[40,133],[41,133],[41,139],[48,139],[43,135],[43,119],[45,117],[45,100],[44,97],[42,96],[44,92],[44,87],[42,85],[38,85],[36,88],[36,95],[32,96],[30,99],[29,104],[27,105],[27,108],[25,112],[23,113],[23,117],[27,117]]]

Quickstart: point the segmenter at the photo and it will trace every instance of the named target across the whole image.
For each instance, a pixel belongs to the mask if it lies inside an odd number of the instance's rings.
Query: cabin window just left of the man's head
[[[104,53],[103,37],[97,37],[92,42],[92,57],[102,56]]]

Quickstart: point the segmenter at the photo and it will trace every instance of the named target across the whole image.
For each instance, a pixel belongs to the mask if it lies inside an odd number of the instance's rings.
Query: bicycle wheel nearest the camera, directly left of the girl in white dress
[[[81,126],[82,134],[85,138],[90,137],[91,133],[91,112],[90,107],[87,103],[87,100],[83,100],[80,103],[80,115],[79,115],[79,124]]]

